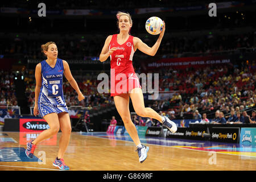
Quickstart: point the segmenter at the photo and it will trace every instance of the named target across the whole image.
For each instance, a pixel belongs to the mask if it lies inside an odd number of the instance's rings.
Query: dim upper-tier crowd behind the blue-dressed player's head
[[[0,55],[21,56],[23,59],[39,59],[43,60],[46,57],[41,52],[41,45],[48,42],[45,39],[25,39],[15,38],[14,40],[5,39],[3,41],[7,44],[0,44]],[[86,60],[90,56],[100,55],[100,46],[98,43],[104,44],[104,40],[98,40],[96,38],[86,38],[79,40],[66,40],[57,39],[54,40],[57,44],[58,54],[61,59],[72,60]],[[68,61],[68,60],[67,60]]]

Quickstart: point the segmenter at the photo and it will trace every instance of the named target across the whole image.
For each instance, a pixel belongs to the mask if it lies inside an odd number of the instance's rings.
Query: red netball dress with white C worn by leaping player
[[[139,79],[133,68],[134,45],[133,36],[129,36],[122,45],[117,43],[117,34],[112,36],[109,50],[117,50],[110,55],[110,96],[129,93],[134,88],[141,88]]]

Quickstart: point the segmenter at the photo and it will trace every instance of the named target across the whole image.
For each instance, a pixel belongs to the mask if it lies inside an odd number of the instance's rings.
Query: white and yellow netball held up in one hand
[[[158,35],[163,31],[163,20],[159,17],[152,16],[147,19],[145,27],[151,35]]]

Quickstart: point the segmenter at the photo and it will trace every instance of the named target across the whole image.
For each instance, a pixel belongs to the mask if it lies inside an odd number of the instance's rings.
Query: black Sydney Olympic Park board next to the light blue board
[[[239,138],[239,127],[212,127],[210,129],[210,140],[212,141],[238,143]]]

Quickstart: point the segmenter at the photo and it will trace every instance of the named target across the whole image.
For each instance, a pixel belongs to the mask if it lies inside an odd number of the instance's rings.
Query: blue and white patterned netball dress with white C
[[[42,86],[38,98],[38,110],[42,117],[49,113],[68,113],[68,107],[64,100],[63,82],[63,60],[57,59],[55,67],[52,68],[43,60]]]

